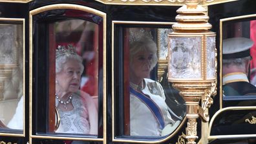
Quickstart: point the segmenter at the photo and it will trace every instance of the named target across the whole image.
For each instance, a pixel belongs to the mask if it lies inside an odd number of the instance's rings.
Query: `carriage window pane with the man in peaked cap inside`
[[[223,106],[256,103],[256,21],[226,21],[222,34]]]

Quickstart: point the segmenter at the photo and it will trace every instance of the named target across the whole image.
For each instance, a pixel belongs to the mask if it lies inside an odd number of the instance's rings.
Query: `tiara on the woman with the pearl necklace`
[[[56,49],[56,59],[64,55],[76,55],[76,47],[73,45],[61,46]]]

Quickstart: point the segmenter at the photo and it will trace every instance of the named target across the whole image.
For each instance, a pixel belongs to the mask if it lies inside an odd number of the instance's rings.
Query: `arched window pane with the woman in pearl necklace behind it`
[[[98,134],[98,25],[72,19],[54,23],[55,132]],[[57,120],[57,121],[58,121]]]

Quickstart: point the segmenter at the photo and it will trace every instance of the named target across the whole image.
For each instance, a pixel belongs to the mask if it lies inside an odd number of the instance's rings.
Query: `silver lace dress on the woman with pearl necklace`
[[[56,101],[58,101],[56,99]],[[63,111],[58,108],[60,124],[56,132],[69,134],[89,134],[89,114],[80,96],[73,94],[72,104],[74,108],[70,111]],[[58,105],[58,104],[56,104]]]

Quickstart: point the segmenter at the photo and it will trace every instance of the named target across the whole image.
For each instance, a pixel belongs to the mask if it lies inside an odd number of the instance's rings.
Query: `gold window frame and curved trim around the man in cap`
[[[250,15],[239,15],[235,17],[226,17],[224,19],[220,19],[220,37],[219,37],[219,57],[220,57],[220,73],[219,73],[219,109],[217,109],[217,112],[213,114],[212,118],[209,121],[209,134],[208,134],[208,140],[213,139],[222,139],[222,138],[255,138],[256,134],[230,134],[230,135],[211,135],[211,130],[213,128],[213,123],[215,123],[215,120],[220,118],[221,114],[224,112],[231,112],[232,110],[237,110],[239,112],[240,110],[256,110],[256,106],[240,106],[240,107],[223,107],[223,90],[222,90],[222,41],[223,41],[223,33],[224,33],[224,24],[225,23],[237,23],[237,22],[244,22],[244,21],[251,21],[256,20],[256,14],[250,14]],[[239,97],[239,96],[238,96]],[[256,96],[253,96],[256,98]],[[234,97],[235,98],[235,97]],[[248,97],[246,97],[248,98]]]

